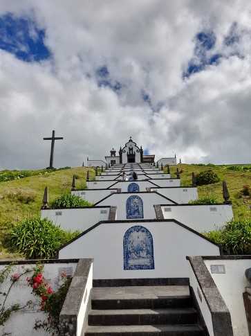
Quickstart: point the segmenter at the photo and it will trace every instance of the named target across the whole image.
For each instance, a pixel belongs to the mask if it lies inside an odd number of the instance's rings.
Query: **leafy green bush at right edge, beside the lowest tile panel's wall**
[[[227,254],[251,254],[251,220],[232,220],[219,231],[205,233]]]

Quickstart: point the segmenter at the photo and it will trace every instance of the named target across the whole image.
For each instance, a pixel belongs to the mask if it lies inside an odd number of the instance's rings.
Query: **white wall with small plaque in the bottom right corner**
[[[251,257],[239,260],[204,259],[204,263],[230,311],[234,336],[249,336],[243,292],[245,292],[246,286],[250,286],[244,273],[245,269],[251,267]],[[224,265],[225,274],[212,274],[211,265]]]

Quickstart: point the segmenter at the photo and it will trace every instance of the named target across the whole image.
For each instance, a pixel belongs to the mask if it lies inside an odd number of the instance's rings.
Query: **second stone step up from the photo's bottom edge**
[[[196,324],[194,308],[91,310],[89,326]]]

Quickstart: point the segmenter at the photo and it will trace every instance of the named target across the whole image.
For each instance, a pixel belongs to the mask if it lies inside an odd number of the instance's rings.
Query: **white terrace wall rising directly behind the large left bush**
[[[110,207],[41,210],[41,218],[49,218],[62,229],[83,232],[100,220],[108,220]]]

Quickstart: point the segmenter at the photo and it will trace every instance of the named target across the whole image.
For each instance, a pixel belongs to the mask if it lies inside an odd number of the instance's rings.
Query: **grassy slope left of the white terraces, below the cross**
[[[77,188],[86,187],[87,168],[70,168],[53,173],[0,182],[0,258],[17,258],[5,246],[6,233],[12,225],[32,215],[39,215],[44,188],[48,186],[49,202],[53,202],[63,193],[71,191],[73,175],[77,175]],[[95,177],[95,171],[89,169],[89,177]],[[27,202],[28,199],[28,203]],[[32,201],[30,201],[32,199]]]

